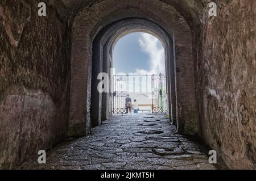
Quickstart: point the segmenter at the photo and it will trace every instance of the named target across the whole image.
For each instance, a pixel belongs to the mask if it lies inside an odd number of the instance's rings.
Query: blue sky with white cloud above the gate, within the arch
[[[147,33],[123,36],[113,53],[115,73],[164,73],[164,49],[160,41]]]

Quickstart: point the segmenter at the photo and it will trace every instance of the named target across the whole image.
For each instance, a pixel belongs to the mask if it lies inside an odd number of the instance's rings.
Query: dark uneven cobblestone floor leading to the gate
[[[65,141],[20,169],[216,169],[202,146],[175,134],[165,115],[114,116],[92,134]]]

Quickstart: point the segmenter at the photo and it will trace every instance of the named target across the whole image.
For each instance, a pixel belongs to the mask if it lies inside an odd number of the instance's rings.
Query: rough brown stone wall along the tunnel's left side
[[[69,28],[57,1],[0,1],[0,169],[62,140],[68,127]]]

